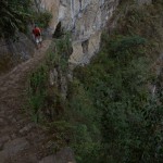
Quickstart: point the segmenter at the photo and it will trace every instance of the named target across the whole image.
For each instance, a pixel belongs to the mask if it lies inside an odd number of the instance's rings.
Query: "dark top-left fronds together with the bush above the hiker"
[[[29,22],[36,22],[40,27],[49,25],[50,12],[34,12],[32,0],[1,0],[0,1],[0,37],[11,38],[16,32],[27,33]]]

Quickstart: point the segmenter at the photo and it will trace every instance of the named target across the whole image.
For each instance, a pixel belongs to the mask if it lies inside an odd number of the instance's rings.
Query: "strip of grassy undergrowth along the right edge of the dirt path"
[[[28,80],[27,112],[34,122],[41,124],[51,135],[50,149],[57,152],[70,142],[73,126],[64,114],[66,100],[62,96],[62,76],[68,71],[72,52],[71,35],[67,33],[51,43],[45,62],[30,74]],[[52,80],[50,78],[52,74]]]

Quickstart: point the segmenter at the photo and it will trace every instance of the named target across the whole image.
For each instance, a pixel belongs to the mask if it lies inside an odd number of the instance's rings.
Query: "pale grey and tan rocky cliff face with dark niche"
[[[86,64],[99,50],[101,29],[111,18],[118,0],[37,0],[40,10],[53,14],[51,29],[58,23],[73,33],[70,63]]]

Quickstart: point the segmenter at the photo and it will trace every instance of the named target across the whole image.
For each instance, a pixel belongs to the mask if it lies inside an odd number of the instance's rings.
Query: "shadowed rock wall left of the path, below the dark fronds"
[[[0,40],[0,75],[18,63],[28,60],[35,51],[35,45],[24,34],[17,34],[17,40]]]

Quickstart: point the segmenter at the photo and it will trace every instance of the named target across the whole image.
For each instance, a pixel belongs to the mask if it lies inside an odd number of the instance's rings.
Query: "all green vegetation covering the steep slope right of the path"
[[[48,73],[53,66],[67,73],[68,39],[51,49],[30,77],[29,102],[34,120],[53,135],[53,150],[71,146],[78,163],[163,161],[162,77],[153,71],[162,51],[162,9],[159,0],[121,3],[116,27],[103,32],[91,63],[75,70],[66,100],[49,86]]]

